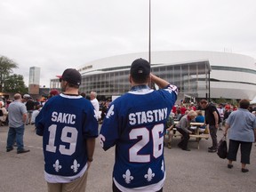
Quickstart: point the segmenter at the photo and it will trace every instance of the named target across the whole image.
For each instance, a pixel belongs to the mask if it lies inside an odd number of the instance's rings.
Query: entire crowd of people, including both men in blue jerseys
[[[81,74],[67,68],[60,76],[61,93],[52,90],[49,99],[40,102],[28,94],[14,95],[10,103],[0,101],[1,124],[9,123],[6,152],[17,144],[17,153],[27,153],[23,135],[26,124],[35,124],[43,137],[44,178],[48,191],[85,191],[88,170],[93,161],[95,140],[99,136],[104,150],[116,147],[112,189],[120,191],[163,191],[165,180],[164,138],[172,148],[172,129],[182,135],[178,147],[189,151],[191,122],[209,128],[212,146],[218,148],[217,131],[229,139],[228,168],[233,167],[241,145],[241,171],[249,172],[252,142],[256,139],[256,108],[249,100],[239,107],[214,104],[207,100],[177,103],[178,88],[152,74],[147,60],[132,62],[131,91],[116,100],[97,100],[97,92],[79,92]],[[159,90],[148,84],[157,84]],[[5,107],[5,108],[4,108]],[[4,110],[5,109],[5,110]],[[1,114],[0,114],[1,115]],[[5,118],[5,119],[4,119]],[[174,121],[177,124],[174,124]],[[99,124],[101,125],[99,133]]]

